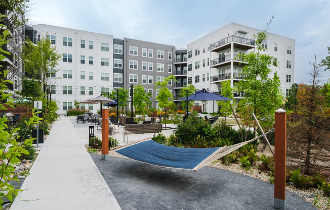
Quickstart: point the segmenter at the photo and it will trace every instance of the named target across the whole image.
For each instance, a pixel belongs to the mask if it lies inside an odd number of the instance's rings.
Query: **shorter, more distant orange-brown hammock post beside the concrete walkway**
[[[109,108],[102,109],[102,160],[107,160],[109,154]]]

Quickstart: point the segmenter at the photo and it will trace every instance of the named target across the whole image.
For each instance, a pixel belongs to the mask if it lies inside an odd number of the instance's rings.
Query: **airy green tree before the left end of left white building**
[[[48,36],[48,33],[47,33]],[[22,61],[28,77],[38,79],[42,82],[42,91],[46,92],[49,75],[55,73],[62,55],[58,54],[56,46],[44,36],[34,45],[30,40],[25,41],[23,47]]]

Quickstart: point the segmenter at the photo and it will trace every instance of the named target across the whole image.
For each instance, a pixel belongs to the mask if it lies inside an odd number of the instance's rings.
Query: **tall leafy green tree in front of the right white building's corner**
[[[270,76],[272,70],[269,67],[277,66],[276,60],[264,53],[266,48],[263,43],[267,40],[267,30],[272,19],[264,31],[254,35],[256,50],[243,56],[243,62],[247,64],[242,68],[244,79],[239,82],[238,91],[245,93],[239,102],[245,122],[250,121],[251,111],[257,117],[268,117],[282,102],[279,77],[276,74],[274,77]]]

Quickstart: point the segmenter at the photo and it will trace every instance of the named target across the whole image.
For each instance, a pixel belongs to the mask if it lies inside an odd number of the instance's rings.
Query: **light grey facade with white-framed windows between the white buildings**
[[[124,86],[131,89],[141,84],[145,92],[151,93],[153,108],[158,108],[156,101],[157,90],[154,83],[163,81],[173,75],[175,47],[148,41],[124,38]],[[173,81],[169,81],[168,88],[173,90]],[[131,96],[131,91],[130,91]],[[131,98],[129,98],[131,107]]]

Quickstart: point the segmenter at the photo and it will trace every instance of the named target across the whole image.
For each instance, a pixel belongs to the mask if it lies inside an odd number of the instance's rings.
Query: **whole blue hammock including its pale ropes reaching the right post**
[[[260,137],[274,132],[269,130],[254,139],[230,146],[215,148],[181,148],[156,143],[150,138],[111,148],[129,159],[160,167],[197,171],[222,156],[251,143]]]

